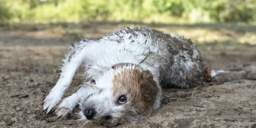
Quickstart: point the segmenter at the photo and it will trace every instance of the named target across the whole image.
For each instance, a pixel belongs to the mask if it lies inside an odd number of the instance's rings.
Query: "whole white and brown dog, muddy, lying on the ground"
[[[204,69],[202,56],[190,39],[144,27],[120,28],[100,39],[83,39],[70,46],[63,62],[60,79],[45,97],[43,110],[55,110],[57,117],[65,117],[79,105],[80,120],[108,117],[109,124],[150,117],[160,107],[166,87],[192,88],[204,80],[256,77],[255,65],[241,71]],[[84,75],[89,81],[62,99],[80,65],[86,67]]]

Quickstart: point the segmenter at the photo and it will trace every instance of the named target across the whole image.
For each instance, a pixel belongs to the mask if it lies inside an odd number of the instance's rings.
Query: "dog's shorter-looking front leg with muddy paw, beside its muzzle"
[[[78,92],[72,94],[71,96],[62,99],[61,103],[56,106],[56,115],[59,118],[63,118],[68,115],[72,115],[72,111],[78,105],[80,98],[87,95],[88,89],[86,87],[81,87]]]

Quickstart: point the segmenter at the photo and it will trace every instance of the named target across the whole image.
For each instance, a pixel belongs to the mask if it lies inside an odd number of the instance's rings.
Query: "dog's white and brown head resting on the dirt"
[[[81,119],[108,117],[111,124],[135,122],[150,116],[161,90],[150,71],[137,65],[116,65],[98,77],[81,98]]]

